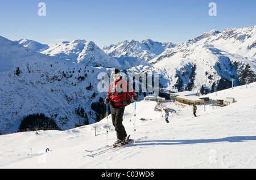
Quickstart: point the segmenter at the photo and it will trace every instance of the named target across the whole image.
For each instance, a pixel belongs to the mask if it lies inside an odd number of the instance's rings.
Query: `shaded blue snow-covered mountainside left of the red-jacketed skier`
[[[94,123],[100,114],[91,106],[106,97],[97,91],[100,72],[0,37],[0,132],[17,131],[23,118],[40,113],[61,129]]]

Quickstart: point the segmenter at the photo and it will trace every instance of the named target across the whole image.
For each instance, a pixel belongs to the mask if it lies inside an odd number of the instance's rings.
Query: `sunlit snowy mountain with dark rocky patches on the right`
[[[209,93],[253,81],[256,72],[256,25],[212,30],[175,48],[167,48],[149,61],[171,91]],[[133,71],[133,69],[131,69]]]

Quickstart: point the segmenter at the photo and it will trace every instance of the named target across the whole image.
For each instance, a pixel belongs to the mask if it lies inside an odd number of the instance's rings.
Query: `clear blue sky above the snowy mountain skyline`
[[[39,2],[46,16],[39,16]],[[210,2],[217,16],[209,16]],[[201,33],[256,25],[255,0],[0,0],[0,36],[43,44],[84,39],[98,46],[124,40],[180,44]]]

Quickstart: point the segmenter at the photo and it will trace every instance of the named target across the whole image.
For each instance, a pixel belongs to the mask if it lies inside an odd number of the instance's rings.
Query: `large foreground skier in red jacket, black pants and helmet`
[[[110,101],[112,123],[115,127],[115,131],[117,132],[117,141],[114,142],[114,144],[120,144],[125,142],[127,136],[125,127],[122,124],[125,106],[129,104],[130,97],[133,98],[134,101],[137,101],[138,97],[135,95],[133,89],[130,90],[128,88],[129,84],[122,78],[119,70],[115,70],[112,73],[112,76],[114,82],[109,85],[109,91],[105,99],[105,104],[108,104]]]

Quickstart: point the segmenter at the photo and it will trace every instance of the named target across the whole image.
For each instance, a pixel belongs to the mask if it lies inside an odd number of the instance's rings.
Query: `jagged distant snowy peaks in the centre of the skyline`
[[[172,44],[172,42],[161,43],[155,42],[151,39],[144,40],[142,42],[132,40],[119,42],[116,45],[104,46],[102,50],[106,54],[109,54],[111,57],[115,58],[139,58],[144,61],[150,61],[155,58],[159,54],[164,52],[164,49],[174,48],[176,45]]]

